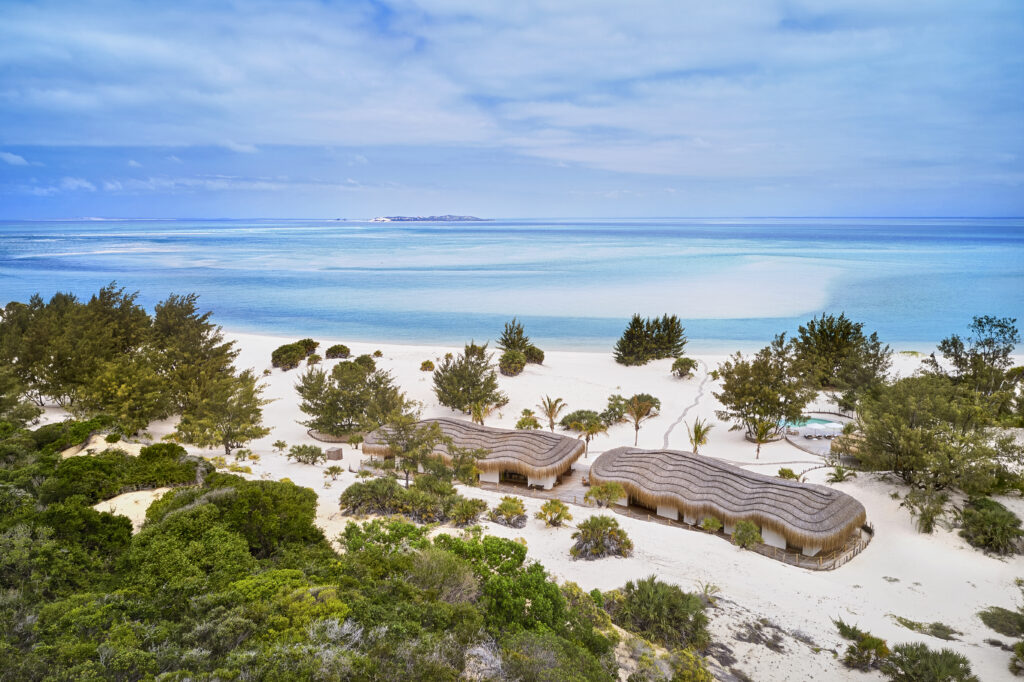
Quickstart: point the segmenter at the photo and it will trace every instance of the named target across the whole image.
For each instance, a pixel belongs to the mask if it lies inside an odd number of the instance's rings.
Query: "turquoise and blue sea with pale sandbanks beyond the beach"
[[[117,280],[152,306],[195,291],[225,328],[396,342],[607,347],[633,312],[691,348],[755,346],[846,311],[900,348],[1024,318],[1024,220],[0,222],[0,300]]]

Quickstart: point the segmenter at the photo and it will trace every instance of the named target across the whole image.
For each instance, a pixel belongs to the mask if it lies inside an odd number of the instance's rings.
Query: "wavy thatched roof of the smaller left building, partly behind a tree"
[[[559,475],[584,453],[584,443],[580,440],[548,431],[498,429],[461,419],[425,419],[419,423],[430,422],[436,422],[456,446],[487,451],[486,457],[476,464],[480,471],[515,471],[537,477]],[[388,454],[381,429],[367,434],[362,452],[368,455]],[[446,446],[438,445],[436,454],[446,458]]]

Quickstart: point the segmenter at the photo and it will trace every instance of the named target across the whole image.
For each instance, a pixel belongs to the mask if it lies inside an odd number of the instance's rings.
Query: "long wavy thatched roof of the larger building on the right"
[[[673,506],[698,521],[705,516],[730,524],[753,521],[797,547],[841,547],[866,518],[863,505],[830,487],[674,450],[609,450],[597,458],[590,475],[593,483],[621,483],[644,505]]]

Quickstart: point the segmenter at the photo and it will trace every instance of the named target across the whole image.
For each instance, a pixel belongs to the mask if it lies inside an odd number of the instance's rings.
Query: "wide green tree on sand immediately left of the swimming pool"
[[[777,433],[785,422],[800,419],[816,393],[802,378],[794,345],[784,334],[749,359],[735,353],[716,372],[722,390],[715,397],[723,410],[715,414],[752,438],[759,422],[771,422]]]

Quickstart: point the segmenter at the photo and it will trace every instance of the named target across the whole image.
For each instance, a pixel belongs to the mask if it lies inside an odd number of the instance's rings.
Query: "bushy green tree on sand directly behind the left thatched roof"
[[[486,344],[469,343],[461,355],[441,359],[433,376],[438,402],[464,414],[471,414],[476,406],[481,415],[508,403],[498,388],[498,375],[486,349]]]

